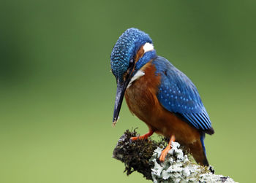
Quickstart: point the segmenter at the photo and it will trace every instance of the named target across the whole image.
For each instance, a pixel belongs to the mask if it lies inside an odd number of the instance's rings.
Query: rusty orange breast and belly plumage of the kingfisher
[[[198,141],[200,133],[196,128],[159,104],[157,91],[161,76],[155,74],[154,64],[149,62],[141,70],[145,75],[132,82],[125,93],[129,110],[140,120],[146,122],[148,128],[167,137],[174,134],[176,141],[181,144]]]

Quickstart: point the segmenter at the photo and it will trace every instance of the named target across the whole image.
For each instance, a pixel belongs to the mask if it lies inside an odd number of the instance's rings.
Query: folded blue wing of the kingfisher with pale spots
[[[195,128],[214,133],[211,121],[192,81],[165,58],[153,61],[161,75],[157,98],[162,106]]]

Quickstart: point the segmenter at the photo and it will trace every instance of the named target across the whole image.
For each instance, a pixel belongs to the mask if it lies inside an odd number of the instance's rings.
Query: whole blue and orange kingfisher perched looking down
[[[163,162],[173,141],[184,145],[202,166],[209,166],[204,139],[214,134],[197,87],[167,59],[158,56],[152,39],[138,28],[128,28],[117,40],[110,56],[116,77],[113,125],[125,97],[129,111],[148,126],[148,133],[170,138],[159,160]]]

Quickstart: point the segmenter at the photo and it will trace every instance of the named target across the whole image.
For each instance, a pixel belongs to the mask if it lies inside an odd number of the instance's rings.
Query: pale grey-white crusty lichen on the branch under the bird
[[[234,182],[227,176],[212,174],[206,166],[192,163],[187,155],[179,149],[178,142],[173,142],[172,149],[167,154],[166,160],[159,163],[162,148],[157,147],[149,162],[154,163],[151,175],[154,183],[169,182]]]

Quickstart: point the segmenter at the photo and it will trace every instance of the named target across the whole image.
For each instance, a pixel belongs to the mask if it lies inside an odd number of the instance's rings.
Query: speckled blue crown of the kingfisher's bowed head
[[[146,42],[152,43],[152,39],[137,28],[128,28],[119,37],[110,56],[111,69],[116,79],[122,80],[124,72],[128,69],[129,61]]]

